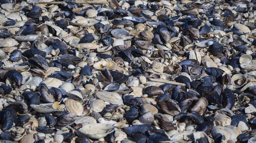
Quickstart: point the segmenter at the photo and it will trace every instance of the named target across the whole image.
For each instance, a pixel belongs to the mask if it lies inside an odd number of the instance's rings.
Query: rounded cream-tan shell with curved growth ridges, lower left
[[[74,112],[77,116],[81,116],[84,111],[83,105],[80,102],[75,101],[73,99],[67,99],[65,101],[65,107],[68,112]]]

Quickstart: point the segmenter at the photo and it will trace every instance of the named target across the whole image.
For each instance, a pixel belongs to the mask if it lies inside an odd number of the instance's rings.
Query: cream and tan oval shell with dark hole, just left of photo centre
[[[97,70],[113,70],[117,67],[117,64],[109,59],[105,59],[99,62],[96,62],[93,64],[93,67],[96,68]]]

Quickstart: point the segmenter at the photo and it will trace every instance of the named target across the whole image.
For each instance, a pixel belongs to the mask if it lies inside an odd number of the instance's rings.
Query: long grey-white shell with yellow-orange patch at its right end
[[[59,102],[55,103],[47,103],[47,104],[40,104],[40,105],[30,105],[35,111],[41,113],[48,113],[48,112],[61,112],[64,111],[63,108],[60,107]]]

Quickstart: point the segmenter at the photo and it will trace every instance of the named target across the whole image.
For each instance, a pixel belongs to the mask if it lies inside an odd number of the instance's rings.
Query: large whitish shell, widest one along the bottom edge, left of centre
[[[113,132],[113,126],[111,124],[94,123],[83,126],[79,129],[82,135],[86,135],[93,139],[99,139]]]

